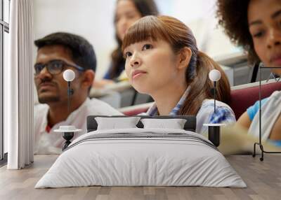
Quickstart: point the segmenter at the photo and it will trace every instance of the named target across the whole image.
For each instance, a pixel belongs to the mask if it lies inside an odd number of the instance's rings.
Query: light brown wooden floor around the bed
[[[56,156],[35,156],[34,164],[19,171],[0,169],[0,199],[281,199],[281,155],[228,156],[247,188],[214,187],[71,187],[34,189]]]

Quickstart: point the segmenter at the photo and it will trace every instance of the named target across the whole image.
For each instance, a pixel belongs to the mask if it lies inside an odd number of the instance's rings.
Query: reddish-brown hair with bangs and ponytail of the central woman
[[[185,71],[185,80],[190,85],[190,93],[179,115],[196,115],[204,99],[212,99],[211,88],[213,83],[209,80],[209,71],[218,69],[221,72],[221,80],[218,82],[218,100],[228,103],[230,100],[230,85],[226,74],[221,67],[203,52],[197,49],[195,37],[192,31],[174,17],[146,16],[138,20],[129,28],[124,36],[122,50],[127,46],[152,39],[164,40],[170,44],[175,54],[183,48],[190,48],[192,56]]]

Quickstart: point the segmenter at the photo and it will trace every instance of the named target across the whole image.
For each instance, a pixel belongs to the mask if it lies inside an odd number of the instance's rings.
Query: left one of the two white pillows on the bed
[[[141,117],[95,117],[98,130],[137,128],[136,124],[140,119]]]

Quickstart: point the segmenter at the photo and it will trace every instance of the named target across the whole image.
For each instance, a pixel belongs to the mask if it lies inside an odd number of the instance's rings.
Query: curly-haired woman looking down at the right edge
[[[281,75],[281,1],[218,0],[219,24],[230,39],[247,52],[249,62],[262,62]],[[261,101],[262,139],[281,145],[281,92],[276,91]],[[249,107],[237,124],[259,136],[259,101]]]

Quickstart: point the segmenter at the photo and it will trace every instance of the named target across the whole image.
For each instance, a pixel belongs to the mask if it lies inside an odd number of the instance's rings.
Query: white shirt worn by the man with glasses
[[[57,155],[62,152],[62,144],[65,140],[62,133],[54,131],[62,125],[72,125],[77,129],[82,129],[79,133],[74,134],[74,138],[77,138],[86,133],[88,115],[123,115],[103,101],[87,98],[77,110],[67,117],[67,120],[55,124],[47,132],[48,109],[47,104],[39,104],[34,107],[34,153],[37,155]]]

